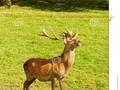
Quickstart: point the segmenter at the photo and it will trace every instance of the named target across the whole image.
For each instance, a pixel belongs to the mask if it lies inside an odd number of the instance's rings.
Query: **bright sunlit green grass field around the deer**
[[[62,41],[39,37],[44,26],[59,36],[68,27],[79,30],[82,45],[65,79],[65,90],[108,90],[108,11],[54,12],[12,6],[0,8],[0,90],[22,90],[24,62],[31,57],[51,58],[62,53]],[[59,84],[57,82],[57,90]],[[36,80],[30,90],[51,90],[50,82]]]

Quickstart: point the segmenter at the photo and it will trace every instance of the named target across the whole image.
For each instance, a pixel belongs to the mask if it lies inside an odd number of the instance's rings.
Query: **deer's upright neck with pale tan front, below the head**
[[[67,70],[73,65],[74,57],[74,50],[67,50],[66,48],[64,49],[61,58]]]

